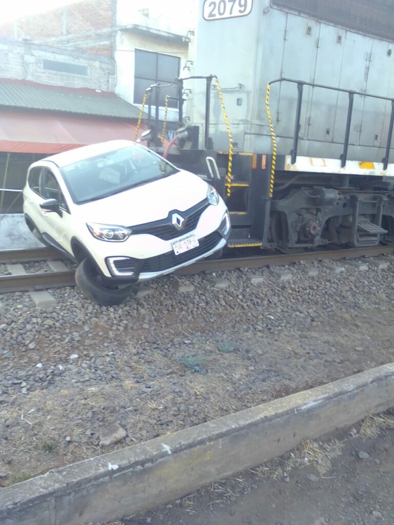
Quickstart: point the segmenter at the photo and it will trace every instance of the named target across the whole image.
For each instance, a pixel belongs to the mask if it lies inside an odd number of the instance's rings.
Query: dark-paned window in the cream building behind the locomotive
[[[150,51],[135,51],[134,70],[134,103],[142,102],[144,92],[155,83],[167,84],[179,76],[180,58]],[[177,88],[169,86],[160,89],[159,105],[164,106],[165,96],[177,97]],[[155,104],[155,94],[152,93],[152,105]],[[170,108],[177,108],[178,101],[169,99]]]

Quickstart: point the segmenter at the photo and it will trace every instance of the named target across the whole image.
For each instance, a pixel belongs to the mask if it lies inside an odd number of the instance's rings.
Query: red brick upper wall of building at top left
[[[92,55],[113,55],[116,0],[81,0],[39,15],[0,24],[0,39],[28,38]]]

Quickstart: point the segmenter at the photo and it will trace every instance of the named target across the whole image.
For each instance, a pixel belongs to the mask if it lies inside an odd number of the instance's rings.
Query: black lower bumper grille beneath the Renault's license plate
[[[195,257],[199,257],[208,251],[211,251],[223,237],[219,232],[213,232],[206,237],[199,239],[199,246],[192,248],[189,251],[185,251],[183,254],[175,255],[173,251],[169,251],[166,254],[157,255],[144,259],[142,264],[141,273],[151,271],[164,271],[174,266],[179,266],[188,262]]]

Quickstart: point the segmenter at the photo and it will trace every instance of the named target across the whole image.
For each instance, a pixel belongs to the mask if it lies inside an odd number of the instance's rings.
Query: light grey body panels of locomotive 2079
[[[394,55],[389,52],[392,44],[387,40],[280,9],[269,0],[254,0],[250,14],[229,19],[205,20],[204,4],[200,0],[192,43],[193,75],[214,74],[219,78],[234,142],[241,151],[265,153],[272,149],[265,109],[266,87],[272,80],[289,78],[369,95],[394,96]],[[214,4],[219,2],[209,2],[211,9]],[[184,114],[203,130],[204,83],[191,81],[185,88],[191,93]],[[279,154],[292,149],[296,102],[296,85],[282,82],[272,86],[270,104]],[[347,93],[305,86],[298,153],[339,158],[347,109]],[[390,111],[389,101],[354,97],[348,159],[381,161]],[[227,133],[220,101],[213,90],[210,117],[213,146],[225,150]]]

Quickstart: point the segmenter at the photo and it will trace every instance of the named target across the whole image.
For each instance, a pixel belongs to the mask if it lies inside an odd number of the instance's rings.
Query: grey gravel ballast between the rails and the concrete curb
[[[333,264],[0,295],[0,486],[393,361],[394,265]]]

